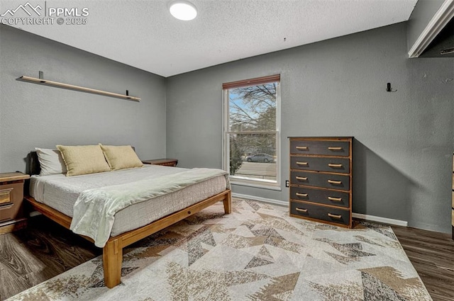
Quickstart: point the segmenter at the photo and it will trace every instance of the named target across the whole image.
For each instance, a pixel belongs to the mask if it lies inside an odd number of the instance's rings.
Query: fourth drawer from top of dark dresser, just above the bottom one
[[[325,205],[335,205],[348,208],[350,205],[350,194],[341,191],[326,191],[322,189],[290,187],[290,198],[293,200],[304,200]]]

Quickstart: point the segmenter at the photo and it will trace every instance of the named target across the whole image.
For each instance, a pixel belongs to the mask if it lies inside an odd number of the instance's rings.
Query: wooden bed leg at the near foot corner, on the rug
[[[104,267],[104,283],[108,288],[120,284],[121,261],[123,261],[123,249],[118,239],[106,242],[102,252],[102,264]]]

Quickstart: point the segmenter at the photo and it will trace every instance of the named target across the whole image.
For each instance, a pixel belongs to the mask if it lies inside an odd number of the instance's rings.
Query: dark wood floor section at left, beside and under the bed
[[[43,215],[0,235],[0,300],[102,254],[102,249]]]

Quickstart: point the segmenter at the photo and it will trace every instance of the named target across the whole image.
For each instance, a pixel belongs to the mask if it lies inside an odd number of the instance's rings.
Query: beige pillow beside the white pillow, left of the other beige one
[[[95,174],[110,171],[99,145],[64,146],[57,145],[66,164],[67,176]]]

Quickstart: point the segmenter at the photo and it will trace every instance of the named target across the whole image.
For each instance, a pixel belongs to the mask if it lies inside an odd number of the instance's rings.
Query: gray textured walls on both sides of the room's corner
[[[287,201],[287,136],[353,135],[353,211],[449,232],[453,59],[407,59],[406,30],[400,23],[164,79],[0,25],[0,172],[25,171],[33,147],[98,142],[133,144],[143,159],[165,157],[167,142],[179,166],[221,168],[221,84],[281,74],[282,191],[234,192]],[[39,70],[142,101],[16,81]],[[387,82],[397,91],[386,92]]]

